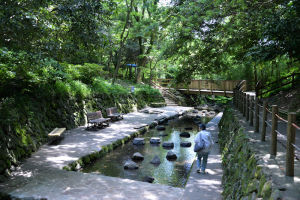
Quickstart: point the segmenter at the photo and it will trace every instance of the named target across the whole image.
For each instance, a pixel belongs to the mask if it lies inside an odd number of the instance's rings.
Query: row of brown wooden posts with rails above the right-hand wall
[[[255,98],[256,97],[256,98]],[[240,110],[246,120],[249,121],[250,126],[255,127],[255,132],[259,132],[259,122],[262,120],[261,141],[265,141],[267,126],[271,128],[271,148],[270,154],[276,156],[277,154],[277,140],[278,138],[286,142],[286,176],[294,176],[294,158],[295,150],[300,151],[300,148],[296,146],[296,129],[300,130],[300,127],[296,125],[296,113],[289,112],[288,118],[284,119],[279,116],[279,109],[277,105],[272,105],[271,109],[268,108],[266,101],[263,105],[258,102],[257,96],[251,96],[245,92],[236,88],[233,93],[234,105]],[[259,110],[262,109],[262,116],[259,114]],[[267,121],[267,116],[272,116],[272,122]],[[255,123],[254,123],[255,119]],[[287,124],[287,135],[280,133],[277,129],[278,120]],[[297,158],[297,156],[296,156]]]

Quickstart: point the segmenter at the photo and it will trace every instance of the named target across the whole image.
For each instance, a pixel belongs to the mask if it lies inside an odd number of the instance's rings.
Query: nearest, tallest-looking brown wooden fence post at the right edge
[[[287,124],[287,141],[286,141],[286,162],[285,162],[285,175],[294,176],[294,157],[295,148],[292,144],[295,144],[296,129],[293,127],[293,123],[296,121],[296,113],[291,112],[288,114]]]

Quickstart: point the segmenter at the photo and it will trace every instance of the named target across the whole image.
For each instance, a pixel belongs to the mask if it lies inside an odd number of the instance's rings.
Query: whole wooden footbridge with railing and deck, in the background
[[[243,91],[247,88],[247,82],[241,80],[192,80],[190,84],[173,83],[173,79],[157,79],[156,84],[165,89],[176,89],[185,94],[233,96],[233,90],[237,85],[242,85]]]

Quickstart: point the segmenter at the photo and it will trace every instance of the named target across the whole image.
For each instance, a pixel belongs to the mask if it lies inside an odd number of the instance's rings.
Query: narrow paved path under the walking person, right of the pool
[[[213,145],[211,152],[208,156],[207,169],[208,174],[199,174],[196,172],[197,165],[196,160],[193,163],[193,168],[185,187],[183,200],[210,200],[210,199],[222,199],[221,193],[223,191],[221,187],[223,170],[221,166],[221,154],[219,149],[218,124],[222,118],[223,113],[219,113],[208,124],[207,130],[212,133],[215,144]]]

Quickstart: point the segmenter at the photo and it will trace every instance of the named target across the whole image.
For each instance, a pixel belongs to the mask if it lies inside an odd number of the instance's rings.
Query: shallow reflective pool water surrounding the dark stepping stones
[[[205,122],[207,119],[205,119]],[[190,138],[179,137],[179,134],[186,131],[184,128],[193,127],[189,130]],[[167,133],[165,137],[159,136],[162,133]],[[185,117],[181,119],[169,120],[165,131],[149,130],[147,133],[140,135],[144,137],[146,144],[135,146],[132,142],[118,147],[113,152],[107,154],[103,158],[97,160],[93,165],[87,166],[83,172],[99,173],[106,176],[121,177],[133,180],[143,181],[146,176],[153,177],[154,183],[167,184],[174,187],[184,187],[188,178],[188,173],[191,169],[195,158],[194,137],[197,133],[197,125]],[[153,145],[149,143],[151,137],[160,137],[161,144]],[[192,142],[189,148],[180,147],[180,142]],[[162,147],[163,142],[173,142],[174,148],[171,149],[177,155],[176,161],[168,161],[166,159],[169,150]],[[139,169],[124,170],[123,165],[135,152],[140,152],[145,158],[143,161],[137,162]],[[155,155],[158,155],[161,164],[153,165],[150,161]]]

